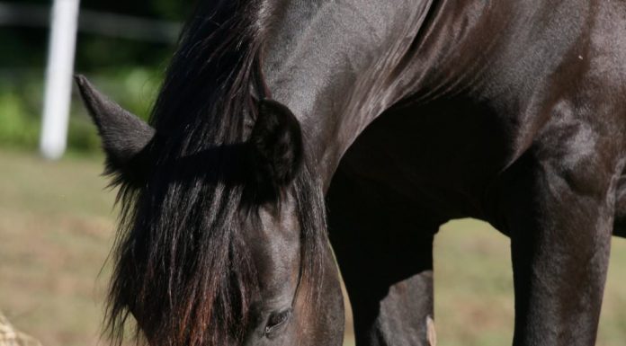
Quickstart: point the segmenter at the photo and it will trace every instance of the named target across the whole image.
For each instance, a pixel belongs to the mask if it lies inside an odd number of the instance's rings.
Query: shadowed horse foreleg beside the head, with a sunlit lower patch
[[[407,203],[370,182],[335,175],[330,239],[353,306],[358,346],[434,346],[433,235]],[[421,228],[421,229],[420,229]]]

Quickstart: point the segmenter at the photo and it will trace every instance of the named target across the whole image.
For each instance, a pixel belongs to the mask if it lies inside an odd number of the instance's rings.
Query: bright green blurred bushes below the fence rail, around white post
[[[43,100],[43,75],[20,74],[0,78],[0,145],[34,149],[38,146]],[[122,107],[147,119],[161,76],[143,67],[86,74],[98,89]],[[78,153],[100,150],[100,138],[75,89],[67,135],[67,148]]]

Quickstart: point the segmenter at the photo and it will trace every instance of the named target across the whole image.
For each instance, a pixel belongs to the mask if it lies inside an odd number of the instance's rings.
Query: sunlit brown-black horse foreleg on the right
[[[612,159],[599,162],[595,153],[564,157],[563,146],[550,147],[561,152],[531,150],[505,174],[501,191],[500,226],[511,236],[514,269],[513,343],[590,346],[602,305],[619,173],[607,171],[617,166]]]

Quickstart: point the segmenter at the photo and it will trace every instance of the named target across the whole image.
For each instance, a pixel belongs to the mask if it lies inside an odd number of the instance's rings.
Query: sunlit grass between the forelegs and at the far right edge
[[[511,344],[514,323],[509,241],[491,226],[458,220],[435,238],[435,316],[445,346]],[[626,240],[613,237],[597,346],[626,340]]]

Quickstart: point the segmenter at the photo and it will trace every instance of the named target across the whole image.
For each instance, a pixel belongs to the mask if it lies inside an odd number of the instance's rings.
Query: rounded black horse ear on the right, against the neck
[[[276,190],[289,185],[302,165],[300,122],[279,102],[262,100],[258,110],[248,142],[251,171],[262,187]]]

